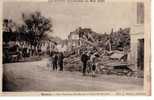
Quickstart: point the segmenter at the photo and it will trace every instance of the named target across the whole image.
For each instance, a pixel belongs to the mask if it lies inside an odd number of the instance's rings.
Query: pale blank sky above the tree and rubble
[[[114,2],[99,4],[64,4],[43,2],[7,2],[3,5],[3,18],[22,23],[21,14],[40,11],[51,18],[50,36],[67,38],[78,27],[91,28],[97,33],[110,33],[111,29],[130,27],[135,20],[135,3]]]

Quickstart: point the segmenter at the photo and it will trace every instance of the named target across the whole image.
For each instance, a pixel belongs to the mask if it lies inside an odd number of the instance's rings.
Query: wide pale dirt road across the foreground
[[[80,72],[54,72],[47,59],[4,65],[4,91],[116,91],[142,90],[143,79],[116,75],[93,78]]]

